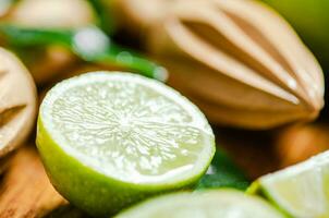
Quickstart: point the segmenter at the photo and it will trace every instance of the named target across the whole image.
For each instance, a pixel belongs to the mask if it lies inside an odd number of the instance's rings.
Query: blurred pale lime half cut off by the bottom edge
[[[233,190],[168,194],[148,199],[115,218],[283,218],[257,196]]]

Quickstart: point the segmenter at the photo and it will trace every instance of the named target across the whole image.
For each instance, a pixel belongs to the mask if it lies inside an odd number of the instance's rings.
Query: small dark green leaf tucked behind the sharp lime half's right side
[[[208,172],[200,179],[196,189],[233,187],[246,190],[249,183],[243,171],[226,152],[217,149]]]

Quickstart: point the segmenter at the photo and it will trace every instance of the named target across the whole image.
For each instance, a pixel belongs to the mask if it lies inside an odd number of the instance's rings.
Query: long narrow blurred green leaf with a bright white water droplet
[[[114,44],[96,26],[68,31],[0,24],[0,35],[16,48],[59,45],[87,62],[115,64],[148,77],[167,80],[167,71],[162,66]]]

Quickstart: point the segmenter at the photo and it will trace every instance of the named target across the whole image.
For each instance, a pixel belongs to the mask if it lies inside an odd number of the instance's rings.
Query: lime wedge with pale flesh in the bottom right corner
[[[329,152],[258,179],[249,193],[263,193],[292,217],[329,217]]]

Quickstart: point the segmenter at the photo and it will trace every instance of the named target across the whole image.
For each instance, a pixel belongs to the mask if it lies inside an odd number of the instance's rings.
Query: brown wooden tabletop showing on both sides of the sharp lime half
[[[322,119],[324,120],[324,119]],[[298,162],[329,146],[329,124],[314,122],[273,131],[214,128],[218,146],[253,180]],[[50,184],[32,137],[0,159],[0,218],[87,217]]]

